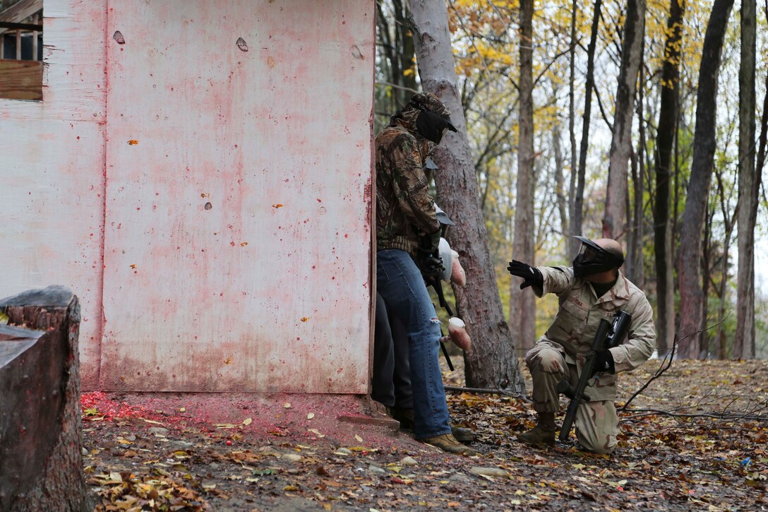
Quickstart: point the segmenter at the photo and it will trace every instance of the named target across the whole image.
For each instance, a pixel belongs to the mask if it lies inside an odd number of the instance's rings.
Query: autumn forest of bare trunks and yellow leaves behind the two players
[[[766,357],[768,2],[377,0],[377,11],[376,134],[422,88],[463,114],[435,156],[435,196],[468,272],[467,288],[453,286],[475,341],[468,385],[519,385],[517,360],[558,302],[534,303],[506,265],[570,264],[572,234],[624,245],[660,357]]]

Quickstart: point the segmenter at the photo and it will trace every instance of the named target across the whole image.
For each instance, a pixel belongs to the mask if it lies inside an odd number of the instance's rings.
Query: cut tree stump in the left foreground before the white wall
[[[80,304],[49,286],[0,300],[0,510],[93,510],[83,474]]]

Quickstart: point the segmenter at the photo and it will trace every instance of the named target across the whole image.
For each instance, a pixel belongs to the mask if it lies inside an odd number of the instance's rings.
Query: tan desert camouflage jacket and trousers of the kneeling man
[[[598,298],[590,283],[574,276],[573,268],[537,268],[544,276],[544,284],[541,288],[534,285],[536,296],[557,294],[560,308],[547,332],[526,354],[525,364],[533,379],[535,411],[557,414],[558,382],[567,374],[575,386],[601,318],[611,321],[617,311],[632,315],[627,340],[611,348],[616,373],[632,370],[648,360],[656,347],[656,331],[645,294],[621,271],[613,288]],[[616,381],[615,374],[597,374],[585,390],[591,401],[582,403],[576,415],[579,443],[598,454],[611,453],[616,446]]]

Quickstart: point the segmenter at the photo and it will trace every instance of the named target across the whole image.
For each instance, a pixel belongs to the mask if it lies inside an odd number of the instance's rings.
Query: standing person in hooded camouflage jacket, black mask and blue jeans
[[[475,455],[451,434],[438,360],[440,321],[422,277],[442,271],[426,162],[448,130],[456,131],[448,108],[422,92],[376,137],[376,288],[408,336],[414,437],[452,454]]]

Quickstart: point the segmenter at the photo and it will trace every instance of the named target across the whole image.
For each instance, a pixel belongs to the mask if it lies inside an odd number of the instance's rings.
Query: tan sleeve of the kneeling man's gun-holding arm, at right
[[[654,310],[650,308],[645,295],[636,291],[641,297],[635,297],[635,307],[627,313],[632,315],[629,326],[629,336],[624,344],[611,348],[616,372],[633,370],[648,360],[656,349],[656,328],[654,327]]]

